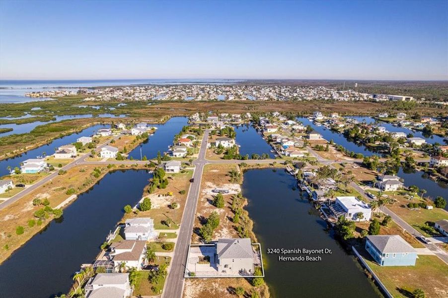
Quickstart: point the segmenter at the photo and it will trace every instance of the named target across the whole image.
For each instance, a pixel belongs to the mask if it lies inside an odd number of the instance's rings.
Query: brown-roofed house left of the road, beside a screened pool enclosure
[[[110,260],[114,262],[115,270],[120,263],[125,263],[127,268],[142,269],[144,265],[146,240],[121,240],[110,245]]]

